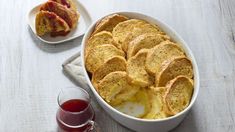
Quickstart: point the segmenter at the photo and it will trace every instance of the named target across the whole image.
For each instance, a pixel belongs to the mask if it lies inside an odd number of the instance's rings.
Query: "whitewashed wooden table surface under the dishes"
[[[60,45],[40,42],[26,23],[30,8],[45,0],[0,2],[0,132],[54,132],[56,97],[76,86],[62,62],[82,38]],[[235,0],[81,0],[94,20],[113,11],[137,11],[174,28],[198,62],[198,99],[173,132],[235,131]],[[93,100],[104,132],[130,132]],[[156,130],[157,131],[157,130]]]

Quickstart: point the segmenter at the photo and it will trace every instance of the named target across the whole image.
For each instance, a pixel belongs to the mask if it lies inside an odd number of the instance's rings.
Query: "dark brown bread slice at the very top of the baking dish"
[[[113,28],[118,23],[126,20],[128,20],[128,18],[120,14],[113,14],[110,16],[106,16],[96,24],[93,34],[96,34],[101,31],[112,32]]]

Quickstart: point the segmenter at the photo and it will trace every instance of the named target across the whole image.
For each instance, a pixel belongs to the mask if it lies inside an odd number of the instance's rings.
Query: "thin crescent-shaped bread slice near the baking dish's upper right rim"
[[[170,40],[170,37],[168,35],[165,35],[159,27],[146,23],[143,24],[141,27],[134,27],[133,31],[131,31],[129,34],[127,34],[127,36],[125,36],[125,40],[122,44],[122,49],[127,52],[130,42],[143,34],[157,34],[161,36],[161,38],[164,40]]]

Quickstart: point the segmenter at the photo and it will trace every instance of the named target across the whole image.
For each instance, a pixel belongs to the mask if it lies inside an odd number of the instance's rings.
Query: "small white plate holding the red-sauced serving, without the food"
[[[35,17],[36,14],[39,12],[40,5],[31,9],[28,13],[28,24],[32,29],[33,33],[43,42],[48,44],[58,44],[62,42],[66,42],[72,39],[75,39],[86,32],[86,29],[91,25],[92,19],[87,12],[86,8],[77,0],[74,0],[74,3],[77,5],[78,12],[80,14],[80,18],[78,21],[78,26],[75,29],[72,29],[69,34],[66,36],[57,36],[51,37],[49,34],[44,36],[38,36],[35,30]]]

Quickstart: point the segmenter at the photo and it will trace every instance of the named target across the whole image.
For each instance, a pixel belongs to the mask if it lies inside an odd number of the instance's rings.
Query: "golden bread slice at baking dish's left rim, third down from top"
[[[114,56],[125,57],[125,54],[112,44],[96,46],[90,50],[85,58],[86,69],[90,73],[94,73],[101,65]]]

